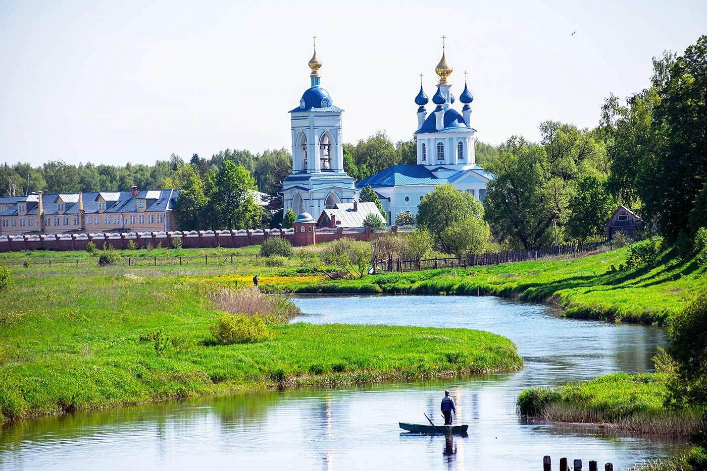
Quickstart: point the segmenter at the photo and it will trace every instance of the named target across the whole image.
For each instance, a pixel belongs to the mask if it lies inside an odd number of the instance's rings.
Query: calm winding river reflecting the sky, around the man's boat
[[[615,470],[684,443],[604,434],[591,427],[526,424],[515,398],[614,371],[645,371],[665,331],[559,316],[548,306],[495,297],[298,297],[311,323],[464,327],[505,335],[525,369],[508,374],[239,393],[185,402],[80,412],[0,431],[2,470],[486,470],[542,469],[543,455],[612,461]],[[452,391],[469,436],[401,433],[397,422],[441,419]],[[449,450],[455,453],[449,453]],[[588,465],[585,464],[585,467]],[[603,468],[602,468],[603,469]]]

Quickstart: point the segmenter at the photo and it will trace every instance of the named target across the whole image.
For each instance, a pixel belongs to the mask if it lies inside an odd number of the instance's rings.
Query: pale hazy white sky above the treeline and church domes
[[[313,35],[346,142],[411,138],[443,35],[477,138],[537,141],[542,121],[595,126],[610,93],[648,86],[653,56],[706,33],[707,2],[688,0],[0,0],[0,162],[290,148]]]

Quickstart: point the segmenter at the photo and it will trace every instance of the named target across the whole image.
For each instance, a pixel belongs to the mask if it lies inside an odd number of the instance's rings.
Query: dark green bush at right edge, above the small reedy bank
[[[707,406],[707,291],[672,318],[667,352],[677,364],[674,400]]]

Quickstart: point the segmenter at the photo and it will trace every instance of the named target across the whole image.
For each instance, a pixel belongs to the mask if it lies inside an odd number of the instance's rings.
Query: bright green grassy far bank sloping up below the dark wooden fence
[[[467,270],[444,269],[370,275],[358,280],[269,285],[274,292],[493,294],[551,302],[566,315],[665,324],[707,287],[707,266],[662,254],[653,268],[624,268],[626,250],[579,258],[503,263]]]

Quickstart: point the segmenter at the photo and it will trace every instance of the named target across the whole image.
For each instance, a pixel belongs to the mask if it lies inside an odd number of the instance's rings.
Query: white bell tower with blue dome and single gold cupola
[[[292,173],[282,182],[283,210],[309,213],[316,218],[337,203],[351,203],[356,195],[354,178],[344,172],[341,112],[329,92],[319,86],[317,49],[310,59],[311,87],[300,105],[290,111]]]

